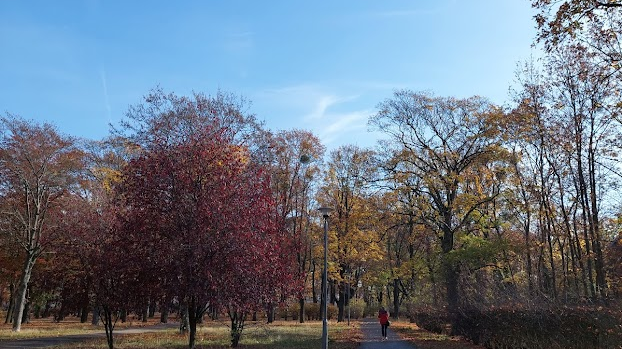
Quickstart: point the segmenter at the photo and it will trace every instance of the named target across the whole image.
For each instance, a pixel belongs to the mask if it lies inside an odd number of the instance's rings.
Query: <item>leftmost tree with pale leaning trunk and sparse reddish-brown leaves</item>
[[[25,257],[13,320],[13,331],[19,331],[32,269],[55,238],[53,213],[62,209],[59,202],[76,185],[83,155],[73,139],[49,124],[8,115],[0,125],[0,231],[20,245]]]

